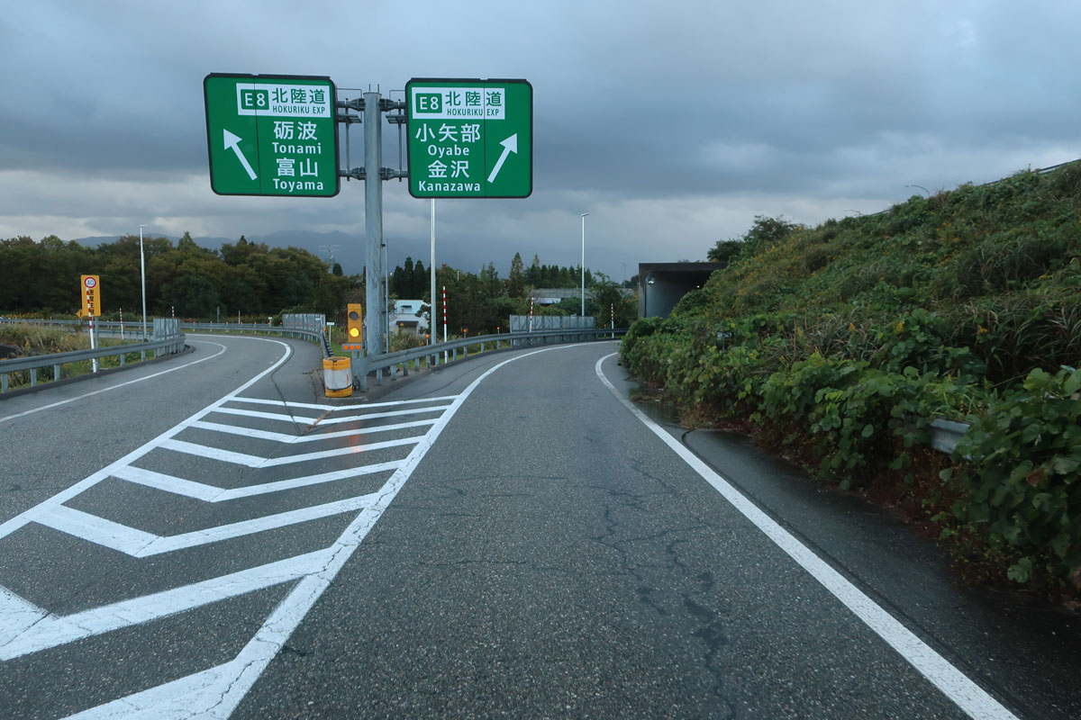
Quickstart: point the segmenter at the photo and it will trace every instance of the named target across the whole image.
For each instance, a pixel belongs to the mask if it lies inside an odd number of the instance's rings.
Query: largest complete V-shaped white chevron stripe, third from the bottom
[[[255,534],[256,532],[265,532],[266,530],[275,530],[290,525],[363,510],[371,505],[375,499],[374,493],[358,495],[322,505],[312,505],[311,507],[291,510],[276,515],[266,515],[251,520],[241,520],[239,522],[219,525],[214,528],[184,532],[178,535],[156,535],[126,525],[121,525],[120,522],[106,520],[90,513],[83,513],[67,505],[53,507],[35,518],[35,521],[53,530],[65,532],[86,542],[131,555],[132,557],[150,557],[151,555],[162,555],[178,549],[208,545],[223,540],[231,540],[233,538]]]

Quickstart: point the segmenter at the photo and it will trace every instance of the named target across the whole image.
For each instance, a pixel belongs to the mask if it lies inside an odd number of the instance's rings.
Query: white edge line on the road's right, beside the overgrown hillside
[[[698,475],[709,483],[739,513],[750,520],[789,557],[810,573],[823,587],[851,610],[880,638],[897,651],[920,675],[943,692],[950,701],[960,707],[971,718],[979,720],[1017,720],[1016,716],[991,697],[983,688],[973,682],[964,673],[957,669],[945,657],[935,652],[927,643],[918,638],[893,615],[883,610],[859,588],[849,582],[841,573],[833,570],[806,545],[796,539],[790,532],[777,525],[769,515],[750,502],[728,479],[712,467],[704,463],[693,452],[683,447],[679,440],[669,435],[660,425],[646,417],[633,404],[626,399],[615,389],[601,369],[601,364],[618,353],[605,355],[597,361],[595,370],[601,382],[612,392],[617,400],[633,413],[636,418],[672,449],[680,459],[691,466]]]

